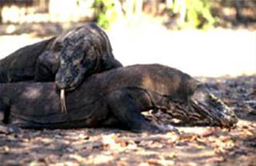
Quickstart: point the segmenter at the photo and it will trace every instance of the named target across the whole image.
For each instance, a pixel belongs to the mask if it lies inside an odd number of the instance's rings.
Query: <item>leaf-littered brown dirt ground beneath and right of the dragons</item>
[[[235,129],[177,126],[178,133],[118,129],[0,134],[0,165],[256,165],[256,75],[203,78],[239,117]]]

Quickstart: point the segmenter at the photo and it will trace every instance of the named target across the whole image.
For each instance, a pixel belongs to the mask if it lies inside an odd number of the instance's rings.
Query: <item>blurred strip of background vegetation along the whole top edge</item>
[[[1,0],[0,22],[98,21],[109,28],[115,21],[151,15],[165,18],[168,28],[209,29],[256,21],[252,0]]]

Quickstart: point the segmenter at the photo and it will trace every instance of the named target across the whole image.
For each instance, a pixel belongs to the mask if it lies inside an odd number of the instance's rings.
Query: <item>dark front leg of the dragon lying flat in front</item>
[[[125,90],[117,90],[108,95],[108,106],[111,112],[132,132],[161,132],[161,129],[141,116],[135,99]]]

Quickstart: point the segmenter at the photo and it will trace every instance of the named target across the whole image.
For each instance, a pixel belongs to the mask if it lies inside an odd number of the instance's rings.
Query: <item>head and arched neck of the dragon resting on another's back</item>
[[[101,70],[102,60],[112,56],[107,34],[96,24],[85,24],[59,36],[56,44],[59,45],[60,67],[55,82],[59,90],[75,90],[85,76]]]

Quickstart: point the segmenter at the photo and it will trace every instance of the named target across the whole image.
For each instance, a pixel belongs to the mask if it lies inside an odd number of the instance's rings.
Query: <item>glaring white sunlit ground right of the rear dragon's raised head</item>
[[[169,31],[146,25],[118,24],[109,31],[115,56],[125,65],[162,63],[193,76],[256,73],[256,31]]]

